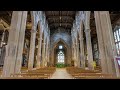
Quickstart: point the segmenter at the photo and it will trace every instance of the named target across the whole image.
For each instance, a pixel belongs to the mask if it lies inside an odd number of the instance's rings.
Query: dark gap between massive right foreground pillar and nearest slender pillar
[[[100,70],[101,65],[100,65],[100,59],[99,59],[98,37],[96,32],[94,12],[91,12],[90,18],[91,18],[90,19],[91,44],[92,44],[94,68]]]

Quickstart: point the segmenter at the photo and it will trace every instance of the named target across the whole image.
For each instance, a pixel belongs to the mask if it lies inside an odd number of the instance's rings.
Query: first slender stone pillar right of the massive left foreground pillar
[[[35,39],[36,39],[36,30],[35,27],[31,30],[31,40],[30,40],[30,51],[29,51],[29,60],[28,60],[28,70],[33,69],[34,64],[34,51],[35,51]]]

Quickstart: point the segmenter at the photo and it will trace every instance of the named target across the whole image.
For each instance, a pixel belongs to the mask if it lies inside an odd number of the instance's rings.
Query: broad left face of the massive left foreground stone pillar
[[[22,17],[23,11],[13,11],[2,77],[10,77],[10,75],[15,72],[15,61],[18,51],[19,32]]]

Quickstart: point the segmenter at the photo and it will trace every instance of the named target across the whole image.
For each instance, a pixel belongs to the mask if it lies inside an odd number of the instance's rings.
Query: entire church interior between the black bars
[[[0,11],[0,79],[119,79],[119,56],[120,11]]]

